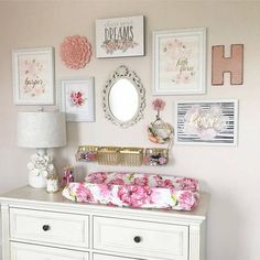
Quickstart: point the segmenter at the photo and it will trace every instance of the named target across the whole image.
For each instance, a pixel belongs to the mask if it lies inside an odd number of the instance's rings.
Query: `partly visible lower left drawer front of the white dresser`
[[[11,242],[11,260],[88,260],[88,252]]]

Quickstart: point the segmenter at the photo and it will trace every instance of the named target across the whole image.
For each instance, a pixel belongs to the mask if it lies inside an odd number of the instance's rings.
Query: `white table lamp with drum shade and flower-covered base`
[[[18,147],[35,148],[36,154],[28,163],[29,185],[45,187],[46,177],[55,174],[53,159],[47,155],[47,148],[66,145],[65,115],[57,111],[19,112]]]

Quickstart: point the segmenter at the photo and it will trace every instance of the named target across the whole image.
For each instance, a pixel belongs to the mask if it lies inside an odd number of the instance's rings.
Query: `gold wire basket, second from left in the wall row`
[[[98,150],[98,163],[105,165],[117,165],[120,162],[120,148],[105,147]]]

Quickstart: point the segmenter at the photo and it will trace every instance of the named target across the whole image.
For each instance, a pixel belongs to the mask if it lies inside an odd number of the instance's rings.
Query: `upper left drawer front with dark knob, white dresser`
[[[10,208],[11,240],[88,248],[88,216]]]

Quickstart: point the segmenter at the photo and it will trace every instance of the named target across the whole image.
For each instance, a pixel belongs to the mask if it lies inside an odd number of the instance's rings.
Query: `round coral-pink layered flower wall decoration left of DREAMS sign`
[[[91,45],[84,36],[67,36],[61,44],[59,55],[67,67],[83,68],[90,61]]]

